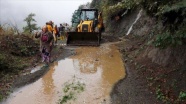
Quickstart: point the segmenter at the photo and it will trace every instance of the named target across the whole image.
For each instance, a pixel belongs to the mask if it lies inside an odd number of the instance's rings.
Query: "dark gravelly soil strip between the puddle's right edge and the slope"
[[[161,104],[149,89],[144,75],[140,74],[140,70],[136,70],[136,60],[127,57],[134,56],[131,51],[137,48],[131,44],[135,42],[125,40],[118,44],[127,76],[113,87],[111,102],[112,104]],[[123,52],[124,50],[131,53]]]

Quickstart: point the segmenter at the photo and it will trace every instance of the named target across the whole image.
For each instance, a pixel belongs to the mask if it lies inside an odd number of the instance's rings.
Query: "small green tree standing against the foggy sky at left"
[[[23,27],[24,32],[32,33],[33,30],[38,30],[37,24],[34,23],[36,20],[34,19],[35,14],[30,13],[24,21],[27,23],[27,26]]]

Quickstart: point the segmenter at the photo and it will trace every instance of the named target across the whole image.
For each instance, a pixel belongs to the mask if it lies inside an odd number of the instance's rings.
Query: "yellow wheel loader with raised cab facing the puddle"
[[[70,46],[99,46],[101,40],[101,29],[103,29],[103,19],[97,9],[81,9],[79,21],[74,31],[67,32],[67,45]]]

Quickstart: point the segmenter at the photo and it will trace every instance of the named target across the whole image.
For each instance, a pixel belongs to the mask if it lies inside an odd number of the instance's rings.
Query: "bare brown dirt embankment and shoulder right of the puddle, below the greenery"
[[[186,91],[185,46],[164,50],[155,48],[151,42],[162,25],[144,11],[131,33],[124,36],[129,29],[124,26],[131,25],[130,21],[135,20],[137,13],[124,17],[120,24],[112,23],[114,35],[123,31],[120,35],[123,43],[119,47],[127,69],[127,77],[113,88],[113,104],[186,103],[182,99]]]

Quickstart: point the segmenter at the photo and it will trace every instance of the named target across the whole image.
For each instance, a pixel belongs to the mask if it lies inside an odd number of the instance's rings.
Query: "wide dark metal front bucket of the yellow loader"
[[[68,46],[99,46],[101,34],[98,32],[68,32]]]

